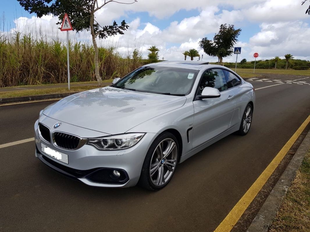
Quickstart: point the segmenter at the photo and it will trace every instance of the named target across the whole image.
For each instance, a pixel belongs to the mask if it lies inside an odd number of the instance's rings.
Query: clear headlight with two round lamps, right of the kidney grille
[[[87,144],[93,145],[100,150],[117,150],[130,148],[143,137],[144,133],[128,133],[112,135],[102,138],[88,139]]]

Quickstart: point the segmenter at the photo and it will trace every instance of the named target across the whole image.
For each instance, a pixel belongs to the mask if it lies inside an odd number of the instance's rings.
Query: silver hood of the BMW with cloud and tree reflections
[[[104,87],[65,97],[45,108],[42,113],[78,127],[121,134],[142,122],[181,107],[185,101],[184,96]]]

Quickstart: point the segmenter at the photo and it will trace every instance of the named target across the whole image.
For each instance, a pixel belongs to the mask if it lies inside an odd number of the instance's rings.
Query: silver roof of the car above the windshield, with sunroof
[[[209,62],[202,62],[202,61],[161,61],[157,63],[151,63],[144,65],[143,67],[149,66],[160,66],[160,67],[172,67],[172,68],[186,68],[186,69],[193,69],[193,70],[200,70],[203,67],[208,68],[225,68],[221,65],[209,64]]]

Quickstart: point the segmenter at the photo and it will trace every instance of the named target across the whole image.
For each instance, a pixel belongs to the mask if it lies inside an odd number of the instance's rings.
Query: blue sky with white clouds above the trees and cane
[[[130,0],[123,0],[130,2]],[[58,19],[50,15],[38,19],[29,15],[15,0],[0,0],[0,13],[5,13],[4,31],[34,30],[47,37],[63,39],[65,32],[55,25]],[[293,54],[295,58],[309,59],[310,16],[305,15],[308,2],[301,6],[301,0],[138,0],[132,5],[109,3],[96,15],[101,25],[109,25],[123,19],[130,25],[125,35],[115,36],[101,45],[114,45],[126,55],[133,47],[138,47],[147,57],[147,49],[156,45],[160,58],[182,60],[182,52],[198,46],[203,37],[213,38],[220,24],[234,24],[241,28],[239,42],[242,58],[254,60]],[[2,20],[3,23],[3,20]],[[1,31],[3,24],[1,24]],[[74,40],[90,41],[88,33],[71,33]],[[235,55],[224,58],[234,62]],[[217,61],[204,54],[204,61]]]

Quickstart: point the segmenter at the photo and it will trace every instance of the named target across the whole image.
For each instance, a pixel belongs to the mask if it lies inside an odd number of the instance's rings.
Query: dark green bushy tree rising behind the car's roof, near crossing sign
[[[218,57],[222,63],[224,57],[232,55],[233,46],[237,43],[240,32],[241,29],[235,29],[234,25],[221,24],[213,40],[205,37],[199,41],[199,46],[209,56]]]

